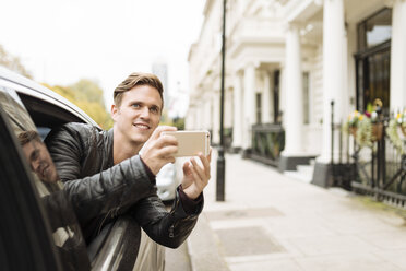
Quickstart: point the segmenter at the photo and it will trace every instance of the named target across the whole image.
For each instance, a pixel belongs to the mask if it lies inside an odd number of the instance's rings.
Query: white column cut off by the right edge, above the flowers
[[[406,107],[406,1],[394,0],[391,40],[391,111]]]

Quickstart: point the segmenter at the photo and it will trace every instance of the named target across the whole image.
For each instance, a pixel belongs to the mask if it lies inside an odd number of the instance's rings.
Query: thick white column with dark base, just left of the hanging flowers
[[[346,36],[343,0],[327,0],[323,5],[323,144],[317,158],[313,184],[329,186],[331,161],[331,102],[334,101],[334,122],[348,115],[344,102],[348,97],[343,91],[345,84]]]

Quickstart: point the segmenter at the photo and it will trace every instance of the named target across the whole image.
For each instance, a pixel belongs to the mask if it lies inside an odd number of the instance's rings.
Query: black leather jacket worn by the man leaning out
[[[87,243],[123,213],[131,214],[156,243],[171,248],[180,246],[194,227],[203,201],[187,214],[177,191],[171,211],[166,211],[155,178],[139,155],[114,165],[112,129],[68,123],[52,130],[45,142]]]

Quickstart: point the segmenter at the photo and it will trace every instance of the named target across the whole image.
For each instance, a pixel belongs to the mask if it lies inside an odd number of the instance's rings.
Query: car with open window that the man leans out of
[[[47,87],[0,67],[2,270],[164,270],[165,249],[128,216],[85,244],[43,143],[56,126],[97,126]]]

